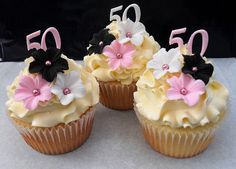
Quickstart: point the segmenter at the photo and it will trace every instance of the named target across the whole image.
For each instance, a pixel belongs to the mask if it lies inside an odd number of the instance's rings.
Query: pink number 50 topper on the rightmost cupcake
[[[175,30],[172,30],[171,31],[171,34],[170,34],[170,39],[169,39],[169,44],[172,45],[172,44],[175,44],[177,43],[179,47],[183,46],[184,45],[184,42],[183,42],[183,39],[180,38],[180,37],[174,37],[174,35],[178,35],[178,34],[181,34],[181,33],[185,33],[187,30],[187,28],[181,28],[181,29],[175,29]],[[203,30],[203,29],[200,29],[200,30],[197,30],[195,31],[189,38],[188,40],[188,43],[187,43],[187,49],[190,53],[192,53],[192,50],[193,50],[193,40],[194,40],[194,37],[197,35],[197,34],[201,34],[202,35],[202,48],[201,48],[201,53],[200,55],[203,56],[204,53],[206,52],[206,49],[207,49],[207,46],[208,46],[208,40],[209,40],[209,37],[208,37],[208,33],[207,31]]]

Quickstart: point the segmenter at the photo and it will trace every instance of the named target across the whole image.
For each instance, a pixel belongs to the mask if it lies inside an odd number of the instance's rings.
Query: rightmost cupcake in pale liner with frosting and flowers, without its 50
[[[137,82],[134,107],[150,146],[167,156],[191,157],[212,142],[227,109],[228,90],[213,65],[184,46],[160,49]]]

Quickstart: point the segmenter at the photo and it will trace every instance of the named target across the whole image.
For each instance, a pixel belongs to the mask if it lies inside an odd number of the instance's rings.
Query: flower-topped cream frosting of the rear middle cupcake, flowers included
[[[113,21],[94,34],[84,63],[99,81],[129,85],[139,79],[159,48],[142,23],[130,19]]]

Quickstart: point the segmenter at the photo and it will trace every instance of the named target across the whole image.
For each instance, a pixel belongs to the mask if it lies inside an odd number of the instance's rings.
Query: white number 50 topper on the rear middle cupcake
[[[118,7],[115,8],[111,8],[110,11],[110,21],[112,20],[116,20],[116,21],[121,21],[121,18],[119,15],[113,15],[115,12],[122,10],[123,5],[120,5]],[[135,11],[135,22],[139,22],[140,18],[141,18],[141,11],[140,11],[140,7],[137,4],[131,4],[129,5],[127,8],[125,8],[123,15],[122,15],[122,21],[127,20],[127,12],[130,8],[134,8]]]

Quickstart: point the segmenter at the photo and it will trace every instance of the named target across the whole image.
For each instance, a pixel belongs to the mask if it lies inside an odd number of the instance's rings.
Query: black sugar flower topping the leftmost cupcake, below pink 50
[[[39,73],[48,82],[52,82],[58,72],[68,70],[68,62],[61,57],[61,50],[57,48],[48,48],[46,51],[39,49],[31,55],[34,61],[30,63],[29,72]]]

